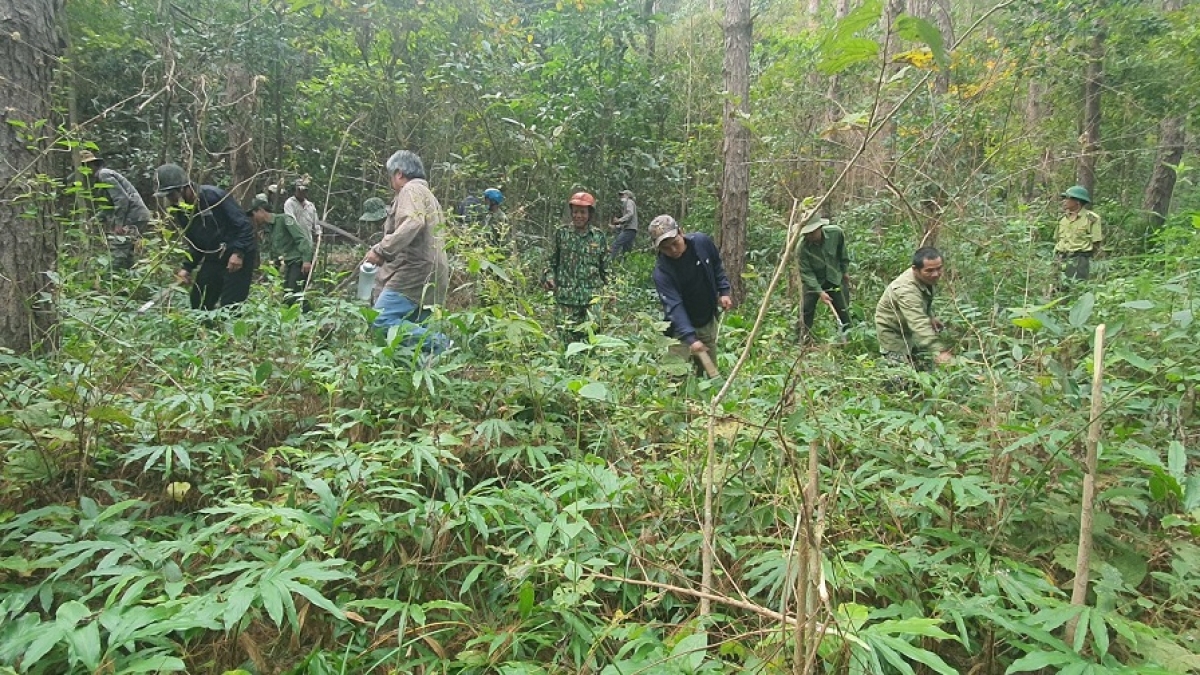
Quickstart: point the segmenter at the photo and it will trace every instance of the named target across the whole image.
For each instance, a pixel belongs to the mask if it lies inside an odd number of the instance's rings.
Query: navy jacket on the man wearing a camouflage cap
[[[691,346],[696,341],[696,324],[692,317],[688,316],[685,306],[692,301],[708,298],[715,301],[722,295],[728,295],[732,286],[730,277],[725,275],[725,265],[721,264],[721,253],[716,250],[716,244],[703,233],[694,232],[684,234],[688,250],[696,256],[696,265],[700,268],[698,282],[680,283],[678,271],[672,264],[672,258],[659,253],[654,264],[654,287],[659,292],[659,300],[662,303],[662,313],[671,322],[671,333],[682,342]],[[690,259],[690,258],[689,258]],[[703,298],[697,298],[703,295]]]

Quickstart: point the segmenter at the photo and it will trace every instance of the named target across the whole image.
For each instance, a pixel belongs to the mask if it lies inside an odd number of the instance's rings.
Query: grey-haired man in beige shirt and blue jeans
[[[445,303],[450,286],[450,263],[439,232],[445,215],[414,153],[397,150],[389,157],[388,175],[396,191],[384,221],[388,234],[367,251],[365,261],[378,267],[374,309],[379,315],[373,325],[382,330],[402,327],[408,331],[404,344],[439,353],[450,340],[420,324],[433,305]]]

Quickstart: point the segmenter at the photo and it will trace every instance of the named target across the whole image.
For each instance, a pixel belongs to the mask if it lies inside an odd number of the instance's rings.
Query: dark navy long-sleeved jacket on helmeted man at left
[[[258,251],[254,226],[233,195],[212,185],[199,185],[194,190],[194,208],[175,210],[175,222],[184,231],[188,252],[184,269],[196,269],[209,256],[224,258],[241,253],[245,258]]]

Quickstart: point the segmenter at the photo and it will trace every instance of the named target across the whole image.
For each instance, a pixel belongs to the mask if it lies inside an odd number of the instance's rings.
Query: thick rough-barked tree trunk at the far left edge
[[[62,0],[0,5],[0,347],[20,353],[52,347],[58,324],[44,297],[58,253],[43,151],[55,125],[35,124],[52,114],[61,11]]]

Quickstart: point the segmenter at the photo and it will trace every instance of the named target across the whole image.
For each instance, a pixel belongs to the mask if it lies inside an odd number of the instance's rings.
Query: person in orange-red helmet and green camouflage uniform
[[[554,292],[563,339],[580,342],[584,338],[581,325],[592,318],[592,306],[607,280],[608,243],[592,227],[595,197],[589,192],[576,192],[566,204],[571,209],[571,226],[554,232],[550,265],[542,282]]]

